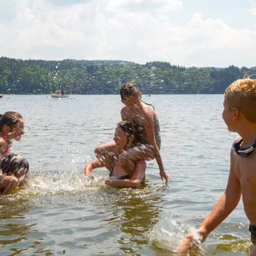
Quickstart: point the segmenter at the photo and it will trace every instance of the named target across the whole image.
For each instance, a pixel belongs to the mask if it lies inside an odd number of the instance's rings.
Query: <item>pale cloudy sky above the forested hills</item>
[[[0,56],[256,66],[256,0],[0,0]]]

